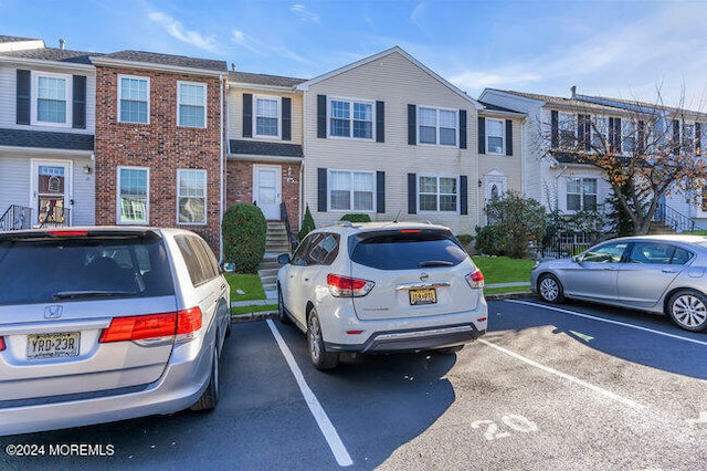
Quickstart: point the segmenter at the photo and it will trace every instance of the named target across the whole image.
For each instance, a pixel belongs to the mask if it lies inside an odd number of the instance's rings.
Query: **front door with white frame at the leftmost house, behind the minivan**
[[[32,160],[32,212],[34,223],[71,224],[71,161]]]

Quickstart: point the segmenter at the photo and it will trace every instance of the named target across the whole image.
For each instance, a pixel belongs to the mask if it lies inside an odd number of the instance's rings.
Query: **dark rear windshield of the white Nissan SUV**
[[[454,266],[466,252],[440,230],[395,230],[351,236],[351,261],[379,270]]]

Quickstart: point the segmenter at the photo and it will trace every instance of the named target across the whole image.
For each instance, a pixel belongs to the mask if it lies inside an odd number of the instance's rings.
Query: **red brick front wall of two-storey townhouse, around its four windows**
[[[149,77],[149,124],[119,123],[118,74]],[[177,126],[177,82],[207,84],[207,127]],[[219,255],[221,91],[219,78],[96,67],[96,223],[117,223],[117,167],[148,167],[149,224],[201,234]],[[207,170],[207,224],[178,223],[177,170]]]

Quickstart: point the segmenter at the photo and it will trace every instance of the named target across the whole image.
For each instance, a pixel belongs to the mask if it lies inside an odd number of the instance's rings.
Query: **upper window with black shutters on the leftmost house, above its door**
[[[71,75],[32,75],[32,124],[71,126]]]

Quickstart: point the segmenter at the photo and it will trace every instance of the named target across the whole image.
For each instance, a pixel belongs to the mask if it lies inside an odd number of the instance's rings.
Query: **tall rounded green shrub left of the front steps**
[[[225,260],[235,265],[236,273],[257,273],[265,254],[267,222],[258,207],[238,203],[223,214],[221,224]]]

